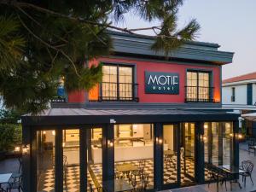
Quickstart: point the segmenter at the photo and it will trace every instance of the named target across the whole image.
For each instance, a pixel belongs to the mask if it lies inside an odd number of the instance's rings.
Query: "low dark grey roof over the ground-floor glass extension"
[[[86,125],[109,124],[114,119],[117,124],[124,123],[171,123],[193,121],[234,121],[238,114],[219,110],[183,109],[85,109],[49,108],[38,115],[22,116],[23,125]]]

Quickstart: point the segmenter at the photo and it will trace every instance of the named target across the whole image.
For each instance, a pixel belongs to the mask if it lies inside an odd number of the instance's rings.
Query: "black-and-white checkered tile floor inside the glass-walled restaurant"
[[[126,161],[125,163],[132,163],[135,166],[139,165],[138,160]],[[124,162],[118,162],[115,165],[124,164]],[[194,161],[186,160],[186,172],[190,175],[194,173]],[[189,177],[185,177],[184,174],[183,159],[181,161],[181,182],[191,183],[192,181]],[[91,173],[87,173],[88,183],[92,184],[93,189],[96,188],[95,183],[91,177],[94,174],[97,182],[102,186],[102,164],[90,165]],[[148,173],[148,189],[152,189],[154,186],[154,161],[146,160],[146,166],[144,172]],[[127,178],[125,178],[127,179]],[[128,179],[127,179],[128,180]],[[46,170],[44,174],[41,175],[41,184],[38,191],[40,192],[53,192],[55,185],[54,171],[52,169]],[[173,157],[169,163],[164,166],[164,183],[175,183],[177,181],[177,158]],[[79,192],[79,166],[68,166],[67,168],[67,189],[66,184],[63,182],[64,191],[66,192]],[[88,184],[89,191],[89,184]]]

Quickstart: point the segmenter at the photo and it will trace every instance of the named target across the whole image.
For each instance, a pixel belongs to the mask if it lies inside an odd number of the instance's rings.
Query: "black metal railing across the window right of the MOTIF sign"
[[[215,102],[214,87],[185,86],[185,102]]]

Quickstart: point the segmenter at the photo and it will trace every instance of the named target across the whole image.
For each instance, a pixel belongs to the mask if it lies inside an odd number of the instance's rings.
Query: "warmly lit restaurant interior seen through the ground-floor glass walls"
[[[154,189],[154,125],[114,125],[114,177],[133,189]],[[102,191],[102,128],[87,131],[86,146],[79,144],[79,129],[63,130],[63,189],[79,191],[79,148],[87,146],[87,190]],[[205,162],[231,162],[232,123],[204,124]],[[163,184],[189,185],[195,182],[195,123],[163,125]],[[37,131],[37,191],[55,189],[55,131]],[[180,146],[180,147],[178,147]],[[180,155],[178,158],[177,155]],[[179,162],[178,162],[179,160]],[[178,175],[178,173],[180,175]],[[210,179],[205,168],[205,179]]]

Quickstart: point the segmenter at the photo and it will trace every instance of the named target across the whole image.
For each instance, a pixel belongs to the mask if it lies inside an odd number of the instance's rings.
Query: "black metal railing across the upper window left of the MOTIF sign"
[[[91,102],[138,102],[137,85],[132,83],[102,82],[98,101]]]

